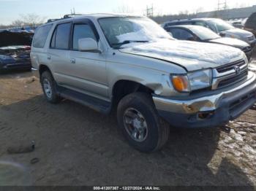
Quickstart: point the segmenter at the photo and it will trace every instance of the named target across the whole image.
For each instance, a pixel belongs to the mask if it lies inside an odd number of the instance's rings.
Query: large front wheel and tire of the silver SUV
[[[170,135],[170,125],[159,117],[151,95],[146,93],[132,93],[122,98],[117,120],[128,143],[140,152],[162,149]]]

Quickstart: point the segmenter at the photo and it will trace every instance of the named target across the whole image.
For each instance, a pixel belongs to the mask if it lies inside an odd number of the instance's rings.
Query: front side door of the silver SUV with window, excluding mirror
[[[75,77],[74,87],[98,98],[108,97],[105,52],[80,52],[78,40],[91,38],[98,42],[99,34],[91,20],[77,20],[72,26],[70,59],[72,69],[69,74]]]

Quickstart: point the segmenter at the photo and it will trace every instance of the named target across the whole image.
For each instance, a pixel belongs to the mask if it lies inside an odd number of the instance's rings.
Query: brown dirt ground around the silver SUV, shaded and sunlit
[[[143,154],[124,141],[115,117],[72,101],[48,104],[30,72],[1,74],[0,185],[255,187],[255,124],[250,109],[230,132],[172,128],[165,149]],[[8,154],[31,141],[34,152]]]

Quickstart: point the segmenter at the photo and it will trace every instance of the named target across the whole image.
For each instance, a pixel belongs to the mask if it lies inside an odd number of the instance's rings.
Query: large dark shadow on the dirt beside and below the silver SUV
[[[143,154],[127,145],[115,117],[72,101],[53,105],[39,95],[0,106],[0,113],[0,160],[25,166],[29,184],[253,185],[219,149],[218,128],[172,128],[162,151]],[[7,155],[8,145],[31,140],[34,152]],[[34,157],[39,163],[31,165]]]

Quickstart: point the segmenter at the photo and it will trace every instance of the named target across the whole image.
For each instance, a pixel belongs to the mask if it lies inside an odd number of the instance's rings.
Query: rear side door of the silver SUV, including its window
[[[69,58],[69,36],[72,23],[60,23],[56,26],[48,49],[48,60],[51,63],[53,76],[59,85],[72,85],[70,68],[72,64]]]

